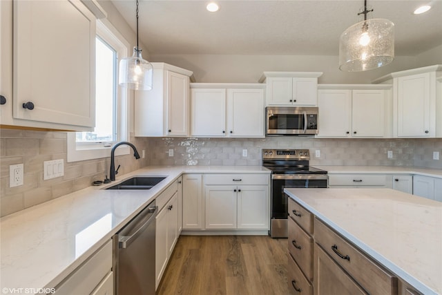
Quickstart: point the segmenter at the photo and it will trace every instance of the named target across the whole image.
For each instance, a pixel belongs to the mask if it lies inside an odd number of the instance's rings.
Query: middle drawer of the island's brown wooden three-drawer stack
[[[302,272],[313,280],[313,238],[289,218],[289,253],[298,263]]]

